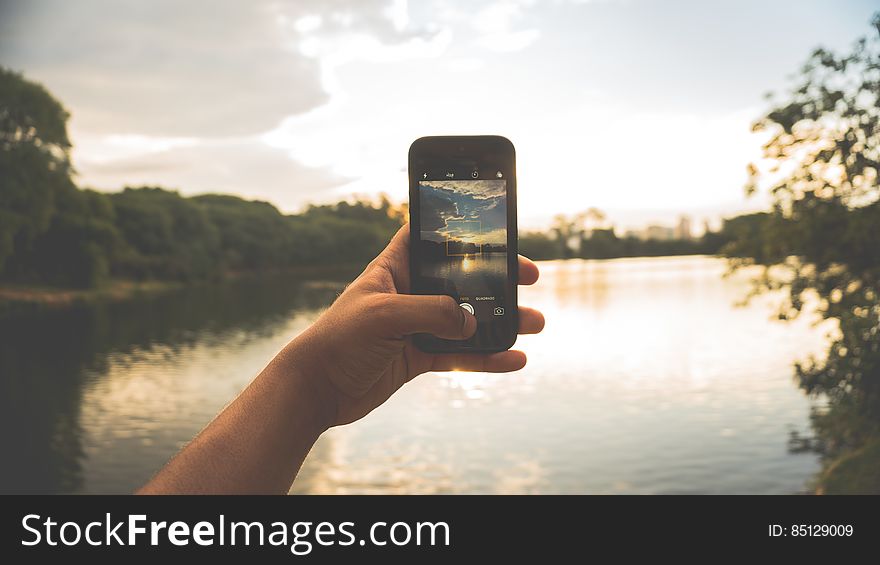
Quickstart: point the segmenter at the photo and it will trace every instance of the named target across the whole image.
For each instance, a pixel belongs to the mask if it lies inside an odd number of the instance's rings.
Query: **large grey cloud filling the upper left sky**
[[[327,107],[334,65],[426,45],[405,3],[387,0],[34,0],[0,16],[3,64],[72,113],[83,184],[228,191],[284,209],[338,197],[351,179],[261,134]]]

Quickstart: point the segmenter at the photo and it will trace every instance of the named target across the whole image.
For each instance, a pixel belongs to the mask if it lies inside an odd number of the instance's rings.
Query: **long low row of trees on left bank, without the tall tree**
[[[110,278],[193,282],[230,273],[366,264],[400,227],[387,199],[310,206],[155,187],[74,190],[55,198],[43,230],[19,222],[2,278],[92,288]]]

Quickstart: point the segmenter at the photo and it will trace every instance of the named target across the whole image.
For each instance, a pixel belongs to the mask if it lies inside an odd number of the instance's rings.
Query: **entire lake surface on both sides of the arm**
[[[428,374],[325,434],[293,493],[798,493],[827,326],[709,257],[540,263],[507,375]],[[241,280],[0,322],[3,492],[130,492],[342,288]]]

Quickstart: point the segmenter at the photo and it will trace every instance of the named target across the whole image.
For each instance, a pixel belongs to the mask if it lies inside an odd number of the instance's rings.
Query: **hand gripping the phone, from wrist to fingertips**
[[[519,257],[519,284],[538,280],[538,268]],[[466,339],[474,316],[449,296],[406,294],[409,281],[409,225],[355,279],[332,306],[279,355],[298,366],[299,378],[315,393],[326,427],[363,418],[397,389],[428,371],[516,371],[522,351],[490,354],[431,354],[412,344],[411,334]],[[519,333],[538,333],[544,316],[519,308]]]

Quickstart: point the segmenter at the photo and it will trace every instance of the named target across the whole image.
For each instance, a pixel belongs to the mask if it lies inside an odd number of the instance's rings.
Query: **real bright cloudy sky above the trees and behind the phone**
[[[0,65],[72,114],[83,186],[225,192],[285,212],[407,197],[424,135],[517,149],[520,226],[621,228],[746,199],[751,123],[862,0],[0,0]]]

